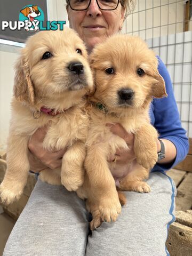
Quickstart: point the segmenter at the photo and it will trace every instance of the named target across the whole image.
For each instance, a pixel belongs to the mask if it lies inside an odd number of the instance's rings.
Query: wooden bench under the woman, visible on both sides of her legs
[[[177,166],[177,169],[167,172],[177,186],[176,197],[176,220],[169,229],[167,238],[167,249],[171,256],[192,255],[192,140],[190,139],[190,150],[187,158]],[[179,170],[180,169],[180,170]],[[0,151],[0,183],[6,170],[5,154]],[[27,186],[20,200],[6,206],[2,205],[4,211],[13,219],[17,220],[25,207],[31,191],[35,186],[34,174],[29,174]]]

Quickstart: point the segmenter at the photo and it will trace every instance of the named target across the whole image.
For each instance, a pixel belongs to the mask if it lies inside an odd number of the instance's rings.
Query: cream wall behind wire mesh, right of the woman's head
[[[133,14],[124,23],[124,33],[143,39],[183,31],[183,0],[137,0]],[[132,31],[135,31],[132,33]]]

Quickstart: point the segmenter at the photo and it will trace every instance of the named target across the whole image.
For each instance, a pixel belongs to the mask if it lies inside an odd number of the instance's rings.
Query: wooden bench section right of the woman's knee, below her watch
[[[167,249],[171,256],[192,255],[192,139],[186,159],[167,172],[177,186],[176,220],[170,226]]]

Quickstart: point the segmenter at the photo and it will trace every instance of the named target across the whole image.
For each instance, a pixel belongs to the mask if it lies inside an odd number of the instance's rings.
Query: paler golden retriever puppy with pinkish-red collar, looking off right
[[[76,190],[84,181],[85,95],[93,86],[83,41],[72,29],[41,31],[27,40],[15,69],[2,201],[9,204],[21,196],[29,172],[28,142],[45,125],[44,147],[67,151],[62,167],[46,169],[40,178]]]

